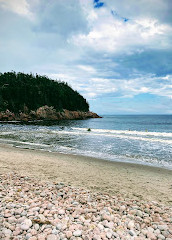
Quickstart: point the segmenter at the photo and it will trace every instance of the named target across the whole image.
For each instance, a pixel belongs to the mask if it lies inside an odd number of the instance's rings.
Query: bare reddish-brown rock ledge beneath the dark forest
[[[101,118],[93,112],[69,111],[64,109],[57,112],[53,107],[43,106],[36,111],[25,111],[19,114],[14,114],[8,109],[5,112],[0,112],[0,121],[34,121],[34,120],[64,120],[64,119],[87,119]]]

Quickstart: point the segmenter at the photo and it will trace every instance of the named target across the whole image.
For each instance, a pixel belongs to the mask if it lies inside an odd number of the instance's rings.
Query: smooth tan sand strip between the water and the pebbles
[[[41,181],[172,205],[172,172],[168,169],[3,144],[0,156],[1,174],[16,172]]]

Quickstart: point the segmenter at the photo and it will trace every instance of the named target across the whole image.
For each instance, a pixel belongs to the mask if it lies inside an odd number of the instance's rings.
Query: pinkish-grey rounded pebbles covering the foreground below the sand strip
[[[172,240],[172,208],[0,174],[0,239]]]

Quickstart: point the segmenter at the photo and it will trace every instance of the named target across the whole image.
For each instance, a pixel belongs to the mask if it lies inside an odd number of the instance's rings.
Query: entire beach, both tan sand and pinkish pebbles
[[[0,146],[0,238],[172,239],[163,168]]]

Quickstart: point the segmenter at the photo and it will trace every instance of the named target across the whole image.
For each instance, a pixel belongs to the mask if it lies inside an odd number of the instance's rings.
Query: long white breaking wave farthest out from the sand
[[[126,140],[138,140],[138,141],[148,141],[148,142],[160,142],[164,144],[172,144],[172,133],[170,132],[147,132],[147,131],[130,131],[130,130],[110,130],[110,129],[91,129],[88,131],[88,128],[65,128],[65,129],[58,129],[58,130],[51,130],[51,129],[39,129],[39,130],[28,130],[24,131],[7,131],[1,132],[0,136],[8,136],[8,135],[20,135],[20,134],[58,134],[60,135],[85,135],[85,136],[104,136],[104,137],[112,137],[112,138],[120,138]],[[76,139],[75,139],[76,140]],[[66,141],[66,139],[64,140]],[[68,141],[72,141],[72,139],[68,139]],[[24,142],[18,142],[23,144],[28,144]]]

